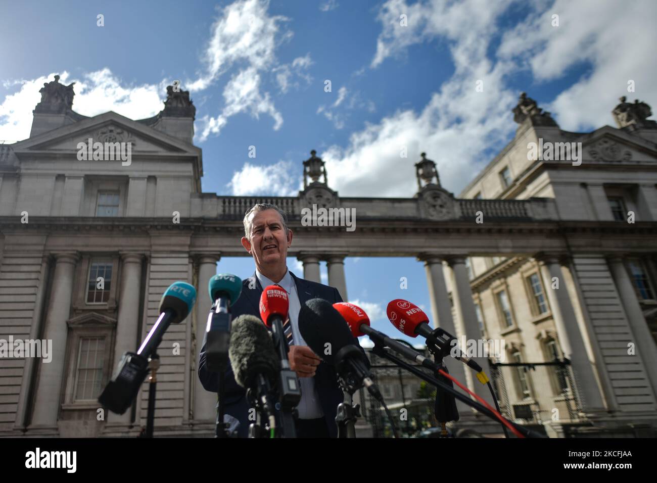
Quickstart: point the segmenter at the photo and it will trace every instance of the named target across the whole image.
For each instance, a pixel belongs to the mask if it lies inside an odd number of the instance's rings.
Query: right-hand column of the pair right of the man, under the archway
[[[477,321],[476,311],[474,310],[474,302],[472,302],[472,289],[470,288],[468,269],[465,266],[465,257],[450,257],[447,259],[447,263],[449,263],[454,275],[452,298],[454,300],[457,317],[459,317],[462,324],[461,327],[463,327],[463,334],[466,340],[479,340],[481,338],[481,330],[479,328],[479,322]],[[454,335],[456,336],[457,334]],[[477,346],[478,345],[479,344],[477,344]],[[466,348],[461,346],[461,349],[465,350]],[[486,357],[472,357],[472,359],[474,359],[474,361],[482,367],[484,373],[490,377],[491,372]],[[468,386],[470,386],[470,390],[474,390],[477,396],[483,398],[487,403],[492,405],[493,400],[486,384],[480,383],[472,372],[473,371],[469,368],[466,371],[466,380]]]

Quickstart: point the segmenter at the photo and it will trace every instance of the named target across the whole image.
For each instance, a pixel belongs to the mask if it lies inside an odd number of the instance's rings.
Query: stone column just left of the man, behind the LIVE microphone
[[[198,256],[198,295],[196,296],[196,354],[193,354],[196,360],[196,371],[194,371],[194,420],[196,421],[215,421],[217,418],[217,395],[214,392],[206,391],[200,379],[198,379],[198,355],[203,345],[203,336],[208,323],[208,314],[210,313],[210,296],[208,292],[208,281],[217,274],[217,262],[221,258],[219,255],[200,255]]]

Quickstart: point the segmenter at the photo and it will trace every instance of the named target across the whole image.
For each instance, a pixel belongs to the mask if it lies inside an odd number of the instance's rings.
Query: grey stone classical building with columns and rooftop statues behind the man
[[[222,257],[245,255],[242,217],[256,202],[273,202],[290,214],[297,234],[290,256],[302,261],[304,278],[318,282],[319,262],[327,261],[328,283],[344,300],[346,256],[417,257],[426,267],[432,321],[468,338],[480,338],[473,292],[487,298],[481,284],[489,284],[490,274],[498,277],[497,271],[478,271],[481,262],[474,260],[520,257],[528,261],[518,267],[538,264],[541,283],[564,281],[559,290],[543,288],[551,319],[529,319],[527,327],[514,305],[518,330],[507,338],[517,339],[528,360],[536,334],[558,342],[557,353],[572,361],[581,425],[656,424],[657,357],[649,313],[644,316],[649,310],[630,296],[635,286],[622,270],[626,257],[645,262],[655,251],[657,129],[646,120],[645,107],[622,103],[618,118],[625,126],[578,134],[560,131],[531,99],[521,99],[516,139],[492,163],[511,166],[504,193],[489,192],[495,181],[487,177],[495,172],[489,166],[463,198],[455,198],[440,186],[434,162],[422,156],[415,196],[348,198],[330,189],[313,152],[298,196],[263,198],[201,192],[202,152],[192,143],[189,93],[170,87],[164,109],[136,121],[115,112],[81,116],[73,99],[73,85],[57,78],[46,83],[30,137],[0,145],[0,344],[10,338],[52,344],[49,361],[0,357],[0,436],[139,434],[146,390],[124,415],[105,413],[97,396],[122,354],[135,350],[156,321],[162,292],[178,280],[194,285],[198,298],[160,346],[155,434],[212,436],[216,397],[196,375],[210,309],[205,287]],[[523,164],[522,145],[539,135],[581,140],[581,169]],[[575,173],[579,181],[573,181]],[[612,210],[605,211],[608,182],[621,183],[613,189],[633,196],[627,206],[636,208],[635,223],[613,221]],[[486,199],[474,199],[478,190]],[[302,210],[313,204],[354,208],[357,229],[302,224]],[[480,274],[475,279],[468,276],[470,257]],[[495,336],[494,315],[482,307],[485,327]],[[636,345],[631,359],[618,354],[628,340]],[[477,360],[489,371],[485,358]],[[447,367],[492,402],[461,363],[449,360]],[[461,413],[463,425],[486,429],[487,421],[467,407]],[[560,434],[560,423],[545,425]]]

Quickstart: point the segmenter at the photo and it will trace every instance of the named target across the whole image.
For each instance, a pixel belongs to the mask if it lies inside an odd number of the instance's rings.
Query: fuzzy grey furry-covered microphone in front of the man
[[[237,384],[256,394],[269,428],[276,427],[271,387],[281,370],[271,337],[253,315],[240,315],[233,321],[228,356]]]

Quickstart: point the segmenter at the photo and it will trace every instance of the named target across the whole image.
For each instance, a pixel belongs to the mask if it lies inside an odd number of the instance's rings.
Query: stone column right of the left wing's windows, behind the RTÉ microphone
[[[119,287],[119,313],[114,343],[114,367],[127,351],[135,350],[139,327],[139,296],[141,295],[141,262],[144,256],[137,253],[121,253],[121,286]],[[107,425],[128,426],[131,412],[115,414],[108,411]]]

